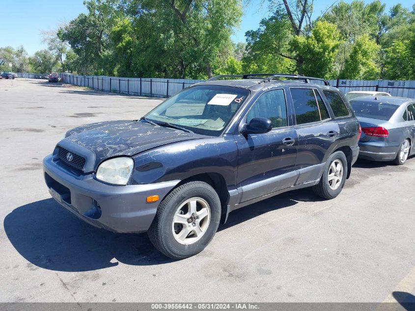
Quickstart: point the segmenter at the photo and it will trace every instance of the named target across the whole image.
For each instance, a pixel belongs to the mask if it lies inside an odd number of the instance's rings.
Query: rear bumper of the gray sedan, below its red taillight
[[[399,145],[386,141],[359,142],[359,158],[371,161],[392,161],[396,158]]]

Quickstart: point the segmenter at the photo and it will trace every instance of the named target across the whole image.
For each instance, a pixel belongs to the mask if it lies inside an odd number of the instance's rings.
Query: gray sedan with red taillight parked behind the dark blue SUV
[[[415,154],[415,99],[364,96],[350,104],[362,129],[360,158],[402,165]]]

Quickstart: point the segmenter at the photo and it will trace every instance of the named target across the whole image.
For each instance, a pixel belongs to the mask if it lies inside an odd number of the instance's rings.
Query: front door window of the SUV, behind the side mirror
[[[253,118],[270,119],[273,128],[287,126],[287,108],[284,91],[276,89],[262,94],[247,115],[247,123]]]

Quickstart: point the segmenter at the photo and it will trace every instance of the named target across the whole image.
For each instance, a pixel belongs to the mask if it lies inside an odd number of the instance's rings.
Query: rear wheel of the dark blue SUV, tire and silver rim
[[[320,181],[313,192],[321,198],[337,197],[343,189],[347,176],[347,159],[343,152],[334,152],[326,162]]]

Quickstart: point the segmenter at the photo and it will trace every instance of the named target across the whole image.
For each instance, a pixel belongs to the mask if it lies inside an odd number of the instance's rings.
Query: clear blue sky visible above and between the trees
[[[0,47],[16,48],[23,45],[29,55],[46,48],[41,43],[40,32],[42,30],[57,28],[59,24],[69,22],[78,14],[86,12],[83,0],[6,0],[1,2]],[[244,42],[245,32],[258,28],[261,19],[272,14],[268,10],[268,1],[260,6],[262,2],[262,0],[251,0],[250,5],[244,9],[241,27],[236,29],[232,36],[233,41]],[[333,2],[334,0],[314,0],[313,17],[316,18]],[[412,8],[414,4],[413,0],[384,0],[383,2],[387,3],[387,9],[396,3],[402,3],[408,8]]]

